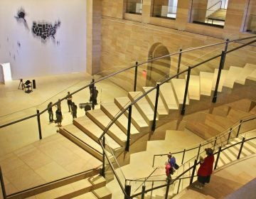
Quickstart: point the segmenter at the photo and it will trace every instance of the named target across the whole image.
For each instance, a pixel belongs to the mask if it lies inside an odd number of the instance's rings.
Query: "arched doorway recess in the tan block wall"
[[[149,50],[149,60],[169,55],[169,50],[162,43],[154,43]],[[161,58],[148,63],[146,71],[146,86],[155,86],[156,82],[169,77],[171,58]]]

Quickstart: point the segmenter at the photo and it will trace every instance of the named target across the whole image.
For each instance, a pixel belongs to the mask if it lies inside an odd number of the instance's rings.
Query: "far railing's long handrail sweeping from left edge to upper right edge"
[[[208,47],[212,47],[212,46],[215,46],[215,45],[222,45],[222,44],[225,44],[225,43],[235,43],[235,42],[247,40],[247,39],[250,39],[250,38],[256,38],[256,36],[251,36],[251,37],[247,37],[247,38],[238,38],[238,39],[234,39],[234,40],[231,40],[231,41],[225,41],[225,42],[220,42],[220,43],[213,43],[213,44],[210,44],[210,45],[203,45],[203,46],[199,46],[199,47],[196,47],[196,48],[188,48],[188,49],[186,49],[186,50],[183,50],[182,52],[171,53],[171,54],[168,54],[168,55],[160,56],[160,57],[158,57],[158,58],[153,58],[153,59],[151,59],[151,60],[146,60],[146,61],[144,61],[144,62],[142,62],[142,63],[138,63],[138,64],[136,64],[136,65],[132,65],[132,66],[129,67],[129,68],[125,68],[125,69],[123,69],[123,70],[119,70],[119,71],[114,72],[114,73],[112,73],[112,74],[110,74],[110,75],[107,75],[107,76],[105,76],[105,77],[102,77],[102,78],[100,78],[99,80],[96,80],[95,82],[92,82],[92,83],[90,83],[89,85],[85,85],[84,87],[81,87],[79,90],[76,90],[76,91],[70,93],[70,95],[74,95],[75,93],[80,92],[81,90],[84,90],[84,89],[87,88],[87,87],[90,87],[90,85],[94,85],[94,84],[96,84],[97,82],[101,82],[102,80],[106,80],[107,78],[112,77],[112,76],[114,76],[114,75],[117,75],[117,74],[119,74],[119,73],[121,73],[121,72],[127,71],[127,70],[132,69],[132,68],[136,68],[136,67],[138,67],[139,65],[144,65],[144,64],[146,64],[146,63],[150,63],[150,62],[152,62],[152,61],[154,61],[154,60],[159,60],[159,59],[161,59],[161,58],[166,58],[166,57],[169,57],[169,56],[171,56],[171,55],[178,55],[178,54],[181,54],[181,53],[187,53],[187,52],[190,52],[190,51],[192,51],[192,50],[198,50],[198,49],[202,49],[202,48],[208,48]],[[253,43],[253,42],[252,42],[252,43]],[[97,74],[95,74],[95,75],[97,75]],[[60,99],[60,102],[62,102],[64,99],[65,99],[65,97],[61,98],[61,99]],[[52,106],[55,106],[57,103],[58,103],[58,102],[53,103]],[[26,120],[26,119],[29,119],[29,118],[31,118],[31,117],[35,117],[35,116],[37,116],[37,115],[41,115],[41,114],[43,114],[44,112],[46,112],[47,110],[48,110],[48,109],[46,108],[46,109],[43,109],[43,111],[39,112],[38,114],[33,114],[33,115],[31,115],[30,117],[25,117],[25,118],[23,118],[23,119],[18,119],[18,120],[14,121],[14,122],[9,122],[9,123],[7,123],[7,124],[0,125],[0,129],[1,129],[1,128],[4,128],[4,127],[8,127],[8,126],[10,126],[11,124],[16,124],[16,123],[18,123],[18,122],[22,122],[22,121],[24,121],[24,120]]]

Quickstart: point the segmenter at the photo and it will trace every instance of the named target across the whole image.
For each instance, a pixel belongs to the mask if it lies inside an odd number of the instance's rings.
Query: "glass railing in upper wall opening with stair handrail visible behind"
[[[192,9],[190,22],[223,28],[225,26],[225,12],[226,10]]]

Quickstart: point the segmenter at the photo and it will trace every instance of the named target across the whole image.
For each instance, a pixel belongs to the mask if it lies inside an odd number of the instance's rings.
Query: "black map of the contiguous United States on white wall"
[[[60,21],[56,22],[54,25],[51,23],[36,23],[33,21],[32,32],[34,36],[38,36],[46,41],[47,38],[55,39],[55,33],[57,28],[60,26]]]

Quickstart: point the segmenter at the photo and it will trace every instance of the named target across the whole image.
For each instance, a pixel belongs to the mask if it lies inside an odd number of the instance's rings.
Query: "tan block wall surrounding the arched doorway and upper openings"
[[[162,44],[169,53],[178,52],[179,48],[183,50],[202,45],[225,42],[226,38],[243,38],[252,36],[249,33],[240,32],[242,27],[242,18],[238,17],[238,23],[235,18],[230,16],[224,28],[216,28],[204,26],[201,24],[189,23],[191,1],[178,1],[178,9],[176,20],[168,18],[151,17],[153,1],[144,0],[142,7],[142,15],[125,14],[125,1],[115,1],[116,4],[109,1],[102,1],[102,50],[100,69],[108,70],[111,68],[127,68],[134,65],[135,61],[142,63],[150,58],[153,46]],[[229,10],[231,15],[236,12],[236,16],[243,16],[244,10],[240,9],[245,6],[244,0],[230,0]],[[110,6],[111,5],[111,6]],[[104,8],[107,6],[110,10]],[[239,7],[239,9],[237,9]],[[245,8],[245,7],[244,7]],[[114,11],[117,13],[114,14]],[[228,23],[230,23],[228,25]],[[235,47],[238,44],[233,43]],[[186,69],[188,65],[196,64],[212,55],[217,55],[224,50],[224,44],[218,47],[207,48],[204,50],[196,50],[189,55],[183,55],[183,63],[181,69]],[[242,48],[234,53],[230,53],[227,58],[225,68],[230,65],[243,67],[245,63],[255,63],[255,47],[249,46]],[[170,72],[176,71],[177,56],[171,58]],[[206,63],[193,73],[200,70],[213,72],[214,68],[219,67],[219,59]],[[143,70],[147,70],[149,66],[143,65]],[[143,72],[141,70],[140,72]],[[131,72],[131,78],[133,80]],[[142,76],[142,74],[139,74]],[[124,75],[125,77],[125,75]]]

